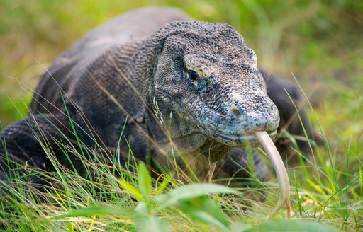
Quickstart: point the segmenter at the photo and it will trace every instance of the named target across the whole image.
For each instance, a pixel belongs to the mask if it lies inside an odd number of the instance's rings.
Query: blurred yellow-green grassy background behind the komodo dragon
[[[360,0],[0,0],[1,127],[27,115],[32,90],[57,54],[97,25],[141,6],[174,6],[198,20],[230,23],[267,72],[297,77],[333,143],[362,140]]]

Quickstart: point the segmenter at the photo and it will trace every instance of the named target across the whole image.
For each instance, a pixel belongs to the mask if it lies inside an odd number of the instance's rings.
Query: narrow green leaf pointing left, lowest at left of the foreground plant
[[[91,207],[86,207],[84,209],[75,209],[69,211],[67,214],[62,214],[53,217],[53,219],[64,219],[69,216],[94,216],[94,215],[132,215],[133,209],[127,209],[123,207],[115,207],[108,205],[94,205]]]

